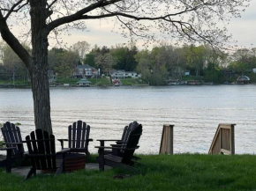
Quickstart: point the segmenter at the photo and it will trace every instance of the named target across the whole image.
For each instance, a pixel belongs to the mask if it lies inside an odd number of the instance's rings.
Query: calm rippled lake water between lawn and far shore
[[[138,153],[159,152],[163,124],[175,125],[175,153],[207,153],[219,123],[237,124],[236,153],[256,151],[255,84],[51,88],[50,100],[56,138],[67,138],[73,121],[86,121],[94,153],[96,139],[120,139],[132,121],[143,125]],[[0,123],[5,121],[20,122],[23,138],[34,130],[30,89],[0,89]]]

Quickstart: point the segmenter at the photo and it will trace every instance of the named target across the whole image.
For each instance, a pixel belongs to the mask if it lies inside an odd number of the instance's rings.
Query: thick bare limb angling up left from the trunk
[[[11,33],[7,26],[6,20],[0,11],[0,33],[4,41],[11,47],[11,49],[19,56],[22,62],[25,63],[27,69],[31,72],[32,60],[26,49],[19,43],[19,40]]]

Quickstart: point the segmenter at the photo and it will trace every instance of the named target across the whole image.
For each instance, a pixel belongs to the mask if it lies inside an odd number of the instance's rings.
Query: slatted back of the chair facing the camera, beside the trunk
[[[69,126],[69,148],[87,148],[91,127],[86,122],[77,121]]]

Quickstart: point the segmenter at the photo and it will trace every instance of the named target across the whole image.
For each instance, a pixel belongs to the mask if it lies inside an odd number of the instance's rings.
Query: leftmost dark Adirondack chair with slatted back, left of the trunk
[[[19,127],[7,121],[4,123],[4,127],[1,128],[1,131],[4,136],[4,144],[6,144],[7,148],[13,148],[11,150],[12,156],[17,159],[18,167],[20,167],[21,159],[24,157],[25,152]]]

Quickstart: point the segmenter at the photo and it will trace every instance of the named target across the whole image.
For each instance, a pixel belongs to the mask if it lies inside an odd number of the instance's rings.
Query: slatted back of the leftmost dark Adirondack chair
[[[13,123],[7,121],[4,123],[4,127],[1,128],[2,134],[4,136],[4,142],[5,143],[22,143],[22,138],[20,134],[20,129],[18,126],[15,126]],[[6,147],[15,147],[16,144],[7,144]],[[14,155],[18,155],[18,150],[14,149],[12,150]],[[22,147],[22,152],[24,152],[24,149]]]

